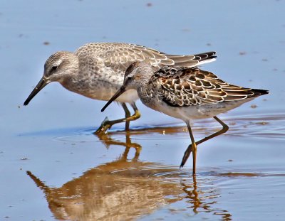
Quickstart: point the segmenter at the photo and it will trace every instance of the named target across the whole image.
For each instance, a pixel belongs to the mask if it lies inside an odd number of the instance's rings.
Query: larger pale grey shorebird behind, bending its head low
[[[51,55],[44,65],[43,77],[28,96],[24,105],[50,82],[59,82],[63,87],[80,95],[93,99],[109,100],[123,85],[125,70],[135,61],[143,61],[155,70],[165,65],[194,67],[209,63],[216,58],[214,52],[197,55],[168,55],[152,48],[128,43],[88,43],[81,46],[75,53],[59,51]],[[113,124],[138,119],[140,112],[135,106],[138,94],[135,90],[125,92],[116,101],[125,110],[125,118],[109,121],[105,119],[95,132],[105,132]],[[125,103],[133,107],[135,114],[130,112]]]

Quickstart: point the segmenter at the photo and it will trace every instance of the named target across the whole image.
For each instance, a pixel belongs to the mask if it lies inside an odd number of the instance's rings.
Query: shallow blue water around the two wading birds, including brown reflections
[[[284,1],[66,2],[0,3],[0,220],[283,220]],[[229,131],[198,146],[193,180],[191,156],[179,168],[185,124],[140,102],[130,134],[100,137],[105,116],[123,116],[115,104],[102,114],[51,84],[22,106],[51,53],[99,41],[217,50],[204,69],[270,94],[219,116]],[[220,128],[192,124],[197,140]]]

